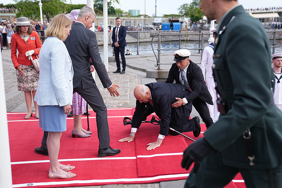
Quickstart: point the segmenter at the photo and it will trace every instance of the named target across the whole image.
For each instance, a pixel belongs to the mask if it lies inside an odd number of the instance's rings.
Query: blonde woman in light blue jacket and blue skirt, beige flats
[[[39,126],[48,131],[47,148],[50,159],[49,178],[72,178],[66,172],[74,166],[58,161],[60,138],[66,131],[66,114],[72,104],[72,62],[63,41],[68,37],[72,22],[64,14],[56,15],[45,31],[48,37],[39,54],[40,76],[34,100],[39,109]]]

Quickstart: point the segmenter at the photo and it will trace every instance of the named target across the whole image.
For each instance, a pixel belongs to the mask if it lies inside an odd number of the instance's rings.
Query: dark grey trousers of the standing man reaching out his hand
[[[107,107],[104,103],[102,95],[98,90],[96,83],[93,87],[82,89],[82,82],[79,86],[73,88],[73,92],[77,92],[96,112],[97,133],[99,138],[99,149],[110,147],[110,134],[107,120]]]

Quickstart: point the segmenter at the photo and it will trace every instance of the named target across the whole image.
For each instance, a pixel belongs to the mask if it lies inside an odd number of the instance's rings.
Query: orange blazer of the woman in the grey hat
[[[33,59],[36,59],[36,55],[39,55],[41,49],[41,41],[37,32],[32,31],[30,34],[27,43],[24,39],[20,37],[18,33],[14,33],[11,36],[11,59],[13,61],[14,67],[16,68],[21,65],[32,65],[29,57],[25,56],[25,52],[29,50],[34,50],[35,53],[32,55]],[[17,57],[17,48],[18,48],[18,57]]]

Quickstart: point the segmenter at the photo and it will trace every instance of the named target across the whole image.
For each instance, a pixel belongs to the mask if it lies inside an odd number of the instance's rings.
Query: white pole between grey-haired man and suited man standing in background
[[[108,3],[107,0],[103,0],[103,25],[104,25],[104,64],[107,71],[108,67]]]

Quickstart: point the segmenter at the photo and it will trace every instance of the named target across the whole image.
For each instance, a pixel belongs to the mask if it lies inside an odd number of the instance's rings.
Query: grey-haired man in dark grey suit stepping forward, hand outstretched
[[[89,30],[94,23],[96,14],[90,7],[83,7],[79,11],[77,21],[72,24],[70,36],[65,40],[65,45],[72,60],[73,92],[77,92],[96,112],[97,131],[99,138],[98,157],[115,155],[120,153],[119,149],[110,147],[110,135],[107,122],[107,107],[96,86],[90,70],[90,58],[97,71],[99,79],[104,88],[107,88],[111,96],[119,96],[116,87],[108,77],[105,65],[102,63],[96,34]]]

